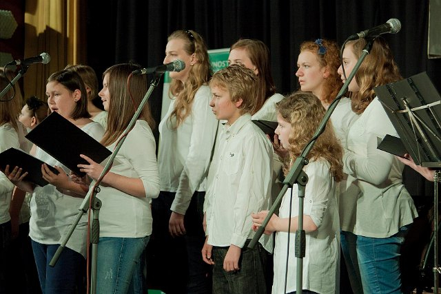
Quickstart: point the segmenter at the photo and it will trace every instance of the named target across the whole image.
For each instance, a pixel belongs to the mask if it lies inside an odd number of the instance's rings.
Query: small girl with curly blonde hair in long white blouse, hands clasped
[[[325,115],[325,108],[314,94],[296,92],[277,103],[278,127],[276,134],[280,143],[289,151],[291,162],[300,155],[312,138]],[[339,220],[336,202],[336,182],[342,178],[342,147],[334,134],[331,122],[327,123],[316,144],[307,156],[305,166],[308,182],[305,189],[303,229],[306,232],[306,252],[303,258],[303,293],[338,292],[338,242]],[[287,167],[287,170],[290,167]],[[290,200],[292,196],[292,204]],[[291,209],[291,218],[289,211]],[[252,215],[253,229],[257,230],[268,211]],[[289,222],[291,227],[288,231]],[[298,229],[298,187],[288,189],[283,197],[279,215],[269,220],[265,233],[276,231],[274,245],[274,284],[272,293],[296,291],[296,256],[294,241]],[[289,238],[289,247],[287,244]],[[286,269],[289,251],[288,269]],[[285,289],[285,273],[287,284]]]

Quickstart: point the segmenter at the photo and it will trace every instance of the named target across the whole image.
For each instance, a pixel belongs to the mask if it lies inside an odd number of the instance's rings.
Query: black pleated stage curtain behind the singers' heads
[[[162,64],[167,35],[187,28],[199,32],[209,49],[227,48],[239,38],[264,41],[278,92],[287,94],[298,89],[294,72],[302,41],[320,37],[341,44],[353,33],[396,18],[401,31],[383,36],[402,76],[426,71],[441,91],[441,60],[427,59],[429,0],[107,0],[87,5],[88,64],[99,75],[114,63]],[[158,87],[150,98],[157,121],[161,94]],[[412,171],[404,177],[411,194],[433,193]]]

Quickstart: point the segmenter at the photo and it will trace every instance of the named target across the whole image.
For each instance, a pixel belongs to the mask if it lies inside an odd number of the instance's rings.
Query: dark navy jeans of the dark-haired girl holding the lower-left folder
[[[43,294],[85,293],[84,277],[86,263],[80,253],[65,247],[55,266],[49,263],[58,244],[41,244],[32,240],[35,264]]]

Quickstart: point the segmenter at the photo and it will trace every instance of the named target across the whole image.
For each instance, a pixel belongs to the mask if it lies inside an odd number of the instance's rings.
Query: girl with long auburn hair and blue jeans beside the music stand
[[[347,76],[366,44],[365,39],[347,42],[342,59]],[[338,73],[345,81],[341,66]],[[359,271],[350,276],[351,285],[358,283],[365,293],[401,293],[400,247],[418,216],[402,184],[404,166],[377,149],[377,138],[398,134],[373,88],[400,79],[389,45],[378,37],[349,83],[351,107],[360,117],[349,128],[343,156],[351,187],[340,196],[341,244],[348,271]],[[360,280],[353,280],[356,276]]]

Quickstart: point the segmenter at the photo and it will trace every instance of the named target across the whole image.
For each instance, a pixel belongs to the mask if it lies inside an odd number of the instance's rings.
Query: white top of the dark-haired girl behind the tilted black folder
[[[104,129],[99,123],[88,123],[81,127],[83,132],[89,134],[95,140],[101,140]],[[69,136],[69,134],[66,134]],[[62,138],[60,138],[62,140]],[[70,170],[53,158],[45,151],[37,147],[35,157],[48,165],[57,165],[64,169],[66,174]],[[30,200],[31,217],[29,220],[29,236],[35,242],[41,244],[60,244],[64,234],[76,219],[83,198],[65,195],[57,190],[54,185],[35,187]],[[66,246],[84,257],[87,252],[86,233],[88,229],[88,217],[84,215]]]

